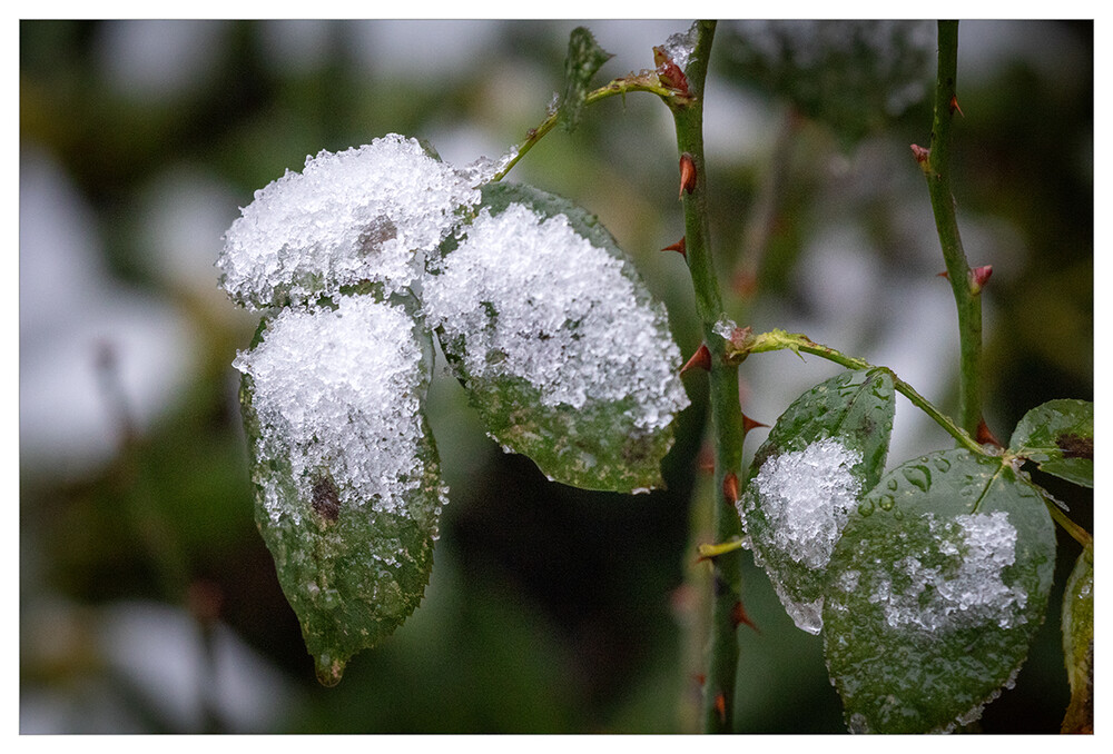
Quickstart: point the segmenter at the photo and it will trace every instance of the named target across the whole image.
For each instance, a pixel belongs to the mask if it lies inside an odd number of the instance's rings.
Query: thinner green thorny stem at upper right
[[[955,199],[951,190],[952,126],[958,110],[958,21],[939,21],[939,58],[935,85],[932,146],[917,156],[927,177],[935,227],[947,265],[947,278],[958,309],[961,353],[958,417],[963,428],[977,435],[982,421],[982,297],[972,284],[971,268],[958,235]]]

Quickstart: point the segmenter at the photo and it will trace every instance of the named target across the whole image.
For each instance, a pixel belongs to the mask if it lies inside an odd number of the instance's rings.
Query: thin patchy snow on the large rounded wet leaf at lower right
[[[936,631],[1024,623],[1027,594],[1002,581],[1016,559],[1016,529],[1008,514],[969,514],[952,523],[925,516],[938,553],[946,557],[943,565],[926,566],[907,556],[895,564],[899,587],[887,577],[878,581],[869,602],[884,603],[888,625]]]

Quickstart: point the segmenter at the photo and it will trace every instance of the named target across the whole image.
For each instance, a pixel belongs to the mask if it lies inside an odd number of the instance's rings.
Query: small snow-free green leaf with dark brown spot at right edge
[[[1016,425],[1008,452],[1048,474],[1093,487],[1094,405],[1064,399],[1036,406]]]

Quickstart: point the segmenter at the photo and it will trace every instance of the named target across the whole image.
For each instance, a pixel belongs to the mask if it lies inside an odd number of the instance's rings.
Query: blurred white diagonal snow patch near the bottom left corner
[[[200,731],[205,704],[233,733],[279,727],[297,701],[289,679],[227,626],[217,624],[213,632],[209,657],[200,628],[185,611],[119,603],[102,614],[99,645],[110,666],[176,730]]]

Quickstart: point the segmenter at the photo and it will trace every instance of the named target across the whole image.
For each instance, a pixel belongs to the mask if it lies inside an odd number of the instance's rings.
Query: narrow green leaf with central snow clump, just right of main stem
[[[845,371],[797,398],[754,456],[738,504],[747,544],[804,631],[823,626],[827,560],[885,468],[893,411],[888,371]]]

